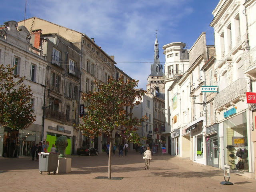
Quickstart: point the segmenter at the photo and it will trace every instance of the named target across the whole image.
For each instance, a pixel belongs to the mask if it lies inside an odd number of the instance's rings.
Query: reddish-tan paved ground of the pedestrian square
[[[196,164],[169,154],[152,156],[150,170],[144,169],[142,155],[112,155],[108,177],[108,156],[71,156],[72,171],[39,174],[38,161],[30,157],[0,158],[0,192],[255,192],[256,180],[231,174],[234,185],[222,185],[223,170]]]

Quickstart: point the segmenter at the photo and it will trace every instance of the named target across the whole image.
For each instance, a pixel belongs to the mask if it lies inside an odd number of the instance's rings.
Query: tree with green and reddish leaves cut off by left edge
[[[0,65],[0,127],[25,129],[36,120],[32,114],[30,86],[24,85],[24,77],[13,74],[14,67]]]

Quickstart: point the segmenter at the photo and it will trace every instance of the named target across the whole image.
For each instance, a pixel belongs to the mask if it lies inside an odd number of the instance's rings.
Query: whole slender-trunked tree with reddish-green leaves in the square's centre
[[[88,114],[81,117],[84,124],[78,125],[83,134],[90,138],[101,136],[103,133],[110,140],[108,155],[108,178],[111,178],[111,150],[112,142],[115,139],[115,131],[118,127],[124,126],[124,134],[127,141],[141,145],[141,140],[136,133],[136,126],[146,117],[140,119],[132,114],[132,110],[126,111],[126,107],[131,109],[140,104],[144,90],[134,89],[138,86],[138,80],[127,80],[120,76],[118,80],[110,77],[106,84],[95,82],[98,92],[83,93],[82,100],[88,102]]]

